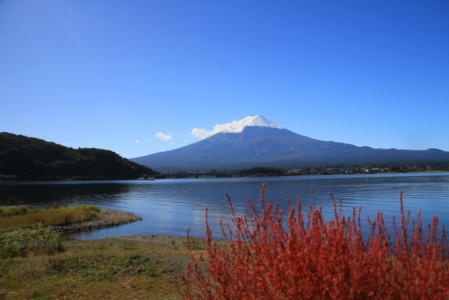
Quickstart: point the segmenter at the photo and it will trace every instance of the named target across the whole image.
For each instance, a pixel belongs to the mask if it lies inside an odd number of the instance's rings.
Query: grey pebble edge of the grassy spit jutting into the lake
[[[58,233],[75,233],[78,231],[119,226],[140,220],[142,220],[142,218],[126,211],[117,211],[114,209],[100,209],[97,220],[91,220],[80,223],[71,223],[67,225],[52,225],[48,226],[48,229],[55,230]]]

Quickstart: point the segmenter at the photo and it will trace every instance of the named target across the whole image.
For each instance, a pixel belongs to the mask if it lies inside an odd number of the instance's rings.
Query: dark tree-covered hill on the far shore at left
[[[68,148],[13,133],[0,133],[0,179],[134,179],[159,172],[110,150]]]

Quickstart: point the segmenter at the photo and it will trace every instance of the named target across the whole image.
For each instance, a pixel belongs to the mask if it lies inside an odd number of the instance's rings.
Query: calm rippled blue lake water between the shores
[[[297,197],[307,209],[313,191],[316,207],[323,207],[326,218],[332,218],[328,193],[333,193],[336,200],[344,199],[343,211],[348,216],[352,207],[362,207],[363,226],[367,215],[375,219],[377,211],[382,211],[389,228],[392,216],[400,216],[399,193],[403,191],[404,204],[412,219],[421,210],[424,224],[431,223],[432,216],[438,216],[439,224],[449,227],[449,173],[0,183],[0,202],[39,207],[54,202],[95,204],[130,211],[143,219],[124,226],[76,233],[81,239],[123,235],[183,237],[187,228],[190,235],[203,237],[208,207],[213,236],[220,239],[219,221],[227,222],[232,215],[225,193],[231,197],[236,213],[246,214],[248,199],[260,206],[262,183],[266,183],[265,199],[279,202],[283,209],[287,208],[287,199],[296,204]]]

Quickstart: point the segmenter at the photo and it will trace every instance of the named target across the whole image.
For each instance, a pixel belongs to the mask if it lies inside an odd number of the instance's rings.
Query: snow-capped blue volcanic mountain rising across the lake
[[[301,136],[260,115],[194,129],[203,140],[175,150],[130,159],[158,171],[316,167],[336,164],[430,164],[449,162],[438,149],[397,150],[358,147]]]

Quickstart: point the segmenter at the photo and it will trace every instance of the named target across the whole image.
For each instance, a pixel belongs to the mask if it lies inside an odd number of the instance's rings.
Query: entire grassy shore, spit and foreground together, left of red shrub
[[[45,227],[89,221],[98,211],[0,207],[0,299],[180,299],[174,278],[189,260],[185,238],[61,240]]]

